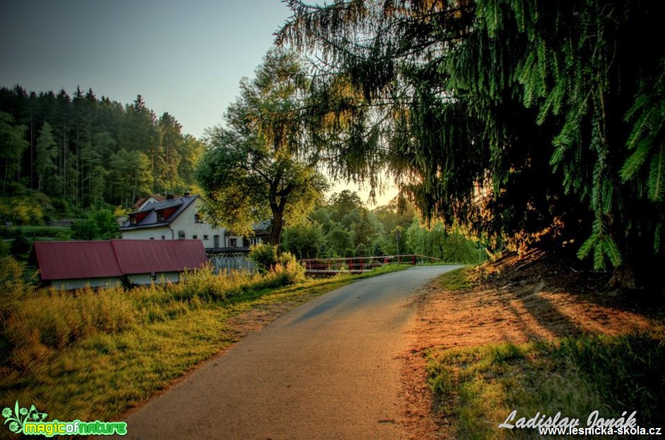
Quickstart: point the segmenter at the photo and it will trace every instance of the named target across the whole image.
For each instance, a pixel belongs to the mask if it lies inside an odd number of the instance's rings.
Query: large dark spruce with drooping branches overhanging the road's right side
[[[288,1],[316,157],[489,240],[580,244],[630,283],[661,255],[657,1]],[[608,264],[609,263],[609,264]]]

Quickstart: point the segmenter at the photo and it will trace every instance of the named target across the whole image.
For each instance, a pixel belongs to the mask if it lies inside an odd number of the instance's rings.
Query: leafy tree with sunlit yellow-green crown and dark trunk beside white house
[[[207,130],[208,150],[196,177],[210,219],[235,233],[270,219],[270,242],[279,245],[284,226],[294,224],[328,188],[315,166],[299,160],[305,142],[297,109],[308,82],[299,56],[272,49],[252,80],[229,106],[226,126]]]

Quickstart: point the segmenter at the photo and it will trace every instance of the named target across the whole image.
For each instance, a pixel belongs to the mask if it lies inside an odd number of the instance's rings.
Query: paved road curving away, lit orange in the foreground
[[[395,356],[413,293],[452,269],[377,276],[301,305],[133,412],[125,438],[406,438]]]

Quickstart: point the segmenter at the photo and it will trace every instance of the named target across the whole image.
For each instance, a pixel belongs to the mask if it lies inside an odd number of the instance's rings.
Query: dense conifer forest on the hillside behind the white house
[[[190,190],[203,144],[138,95],[131,104],[0,88],[0,195],[37,191],[64,207],[129,206],[147,194]],[[66,211],[66,209],[61,209]]]

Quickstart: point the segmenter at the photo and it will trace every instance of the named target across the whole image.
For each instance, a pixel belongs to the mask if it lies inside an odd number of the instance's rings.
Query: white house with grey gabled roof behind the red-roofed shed
[[[213,228],[198,212],[202,201],[198,195],[185,194],[167,200],[143,204],[128,215],[121,226],[126,240],[201,240],[210,253],[247,252],[250,245],[260,243],[266,236],[268,224],[255,228],[255,236],[245,238],[229,233],[225,228]]]

